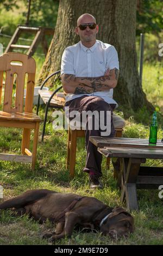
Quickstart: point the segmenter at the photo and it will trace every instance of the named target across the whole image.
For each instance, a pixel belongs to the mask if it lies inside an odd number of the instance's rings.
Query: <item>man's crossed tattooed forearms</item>
[[[106,70],[104,76],[97,78],[76,78],[71,74],[62,74],[62,86],[66,93],[83,94],[99,91],[108,91],[116,87],[119,70]]]

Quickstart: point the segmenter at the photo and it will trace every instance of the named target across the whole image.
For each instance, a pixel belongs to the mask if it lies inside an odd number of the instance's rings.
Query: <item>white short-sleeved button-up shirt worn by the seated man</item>
[[[118,55],[114,46],[96,40],[91,47],[85,47],[81,41],[68,46],[61,59],[61,74],[72,74],[76,77],[95,78],[103,76],[107,69],[119,69]],[[66,102],[81,96],[98,96],[109,104],[118,105],[112,99],[113,89],[103,92],[93,92],[85,94],[67,94]]]

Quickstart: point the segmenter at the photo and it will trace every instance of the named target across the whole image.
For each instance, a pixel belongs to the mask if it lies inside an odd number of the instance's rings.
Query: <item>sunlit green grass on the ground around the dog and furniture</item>
[[[43,117],[44,108],[40,116]],[[35,109],[34,109],[35,111]],[[49,112],[52,120],[52,112]],[[41,142],[42,123],[39,134],[36,170],[32,172],[29,164],[0,162],[0,180],[4,189],[4,199],[9,199],[28,189],[47,188],[58,192],[71,192],[80,195],[96,197],[110,207],[120,205],[121,191],[116,186],[113,177],[112,165],[110,170],[105,168],[103,159],[104,189],[89,191],[87,174],[82,172],[85,164],[86,151],[84,139],[78,139],[76,160],[76,175],[70,179],[66,170],[66,144],[65,130],[53,130],[52,122],[46,127],[45,141]],[[161,138],[162,130],[159,130]],[[134,122],[133,118],[127,120],[127,127],[123,136],[148,138],[149,129],[143,124]],[[1,129],[0,148],[3,151],[18,150],[21,144],[21,134],[17,129]],[[6,141],[6,142],[5,142]],[[147,165],[161,166],[161,160],[148,160]],[[71,239],[57,241],[57,245],[162,245],[163,244],[163,211],[162,200],[158,197],[159,190],[139,190],[138,200],[140,211],[133,211],[135,218],[135,232],[128,239],[112,241],[100,233],[79,233],[74,231]],[[1,199],[2,200],[2,199]],[[126,207],[126,204],[123,204]],[[0,215],[0,244],[1,245],[48,245],[48,240],[41,236],[47,230],[52,230],[51,223],[40,225],[27,216],[13,217],[11,211],[1,211]],[[21,234],[18,235],[18,234]]]

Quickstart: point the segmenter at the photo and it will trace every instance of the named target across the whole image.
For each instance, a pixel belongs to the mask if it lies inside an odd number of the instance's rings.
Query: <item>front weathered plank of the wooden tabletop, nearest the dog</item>
[[[127,158],[151,158],[163,159],[163,150],[148,148],[115,148],[98,147],[98,152],[105,157],[127,157]]]

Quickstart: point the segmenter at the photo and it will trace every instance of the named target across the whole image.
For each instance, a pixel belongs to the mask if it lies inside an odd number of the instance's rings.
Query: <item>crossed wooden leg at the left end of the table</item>
[[[139,174],[140,164],[142,159],[138,158],[123,158],[122,159],[122,193],[121,203],[126,197],[127,209],[137,210],[137,194],[136,180]]]

